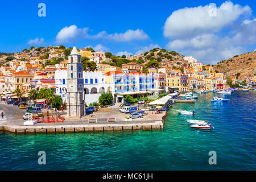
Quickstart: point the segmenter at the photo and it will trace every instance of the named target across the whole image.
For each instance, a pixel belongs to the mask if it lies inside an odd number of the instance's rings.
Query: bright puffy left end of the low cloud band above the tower
[[[86,36],[89,28],[77,28],[76,25],[62,28],[56,36],[57,43],[67,43]]]

